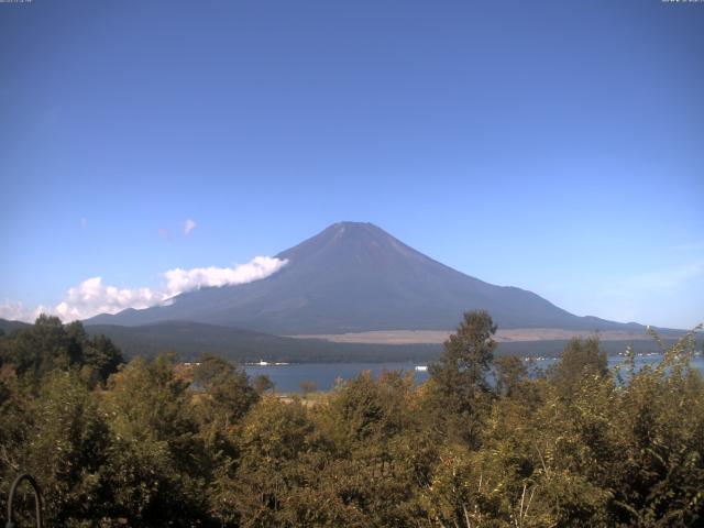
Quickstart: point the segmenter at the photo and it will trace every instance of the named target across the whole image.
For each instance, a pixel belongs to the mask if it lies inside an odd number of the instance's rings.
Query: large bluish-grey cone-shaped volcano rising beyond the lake
[[[201,288],[178,295],[169,306],[101,315],[86,322],[182,320],[277,334],[449,330],[463,311],[483,308],[501,328],[626,328],[578,317],[531,292],[460,273],[372,223],[334,223],[276,257],[288,262],[264,279]]]

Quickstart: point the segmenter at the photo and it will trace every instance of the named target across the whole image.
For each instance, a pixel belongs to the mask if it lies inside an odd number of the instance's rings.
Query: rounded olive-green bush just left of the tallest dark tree
[[[348,504],[354,526],[411,526],[425,517],[416,499],[433,446],[415,413],[413,376],[369,372],[340,385],[315,408],[321,449],[334,460],[316,471],[318,497]]]

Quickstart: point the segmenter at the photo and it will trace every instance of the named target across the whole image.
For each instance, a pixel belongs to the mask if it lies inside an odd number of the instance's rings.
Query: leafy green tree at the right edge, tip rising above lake
[[[618,459],[602,476],[614,491],[614,525],[704,521],[704,381],[690,366],[694,350],[691,333],[656,367],[631,370],[617,391]]]

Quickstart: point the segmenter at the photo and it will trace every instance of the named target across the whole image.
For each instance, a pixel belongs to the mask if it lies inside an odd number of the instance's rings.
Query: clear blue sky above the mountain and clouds
[[[0,317],[358,220],[578,315],[692,327],[703,95],[702,3],[0,4]]]

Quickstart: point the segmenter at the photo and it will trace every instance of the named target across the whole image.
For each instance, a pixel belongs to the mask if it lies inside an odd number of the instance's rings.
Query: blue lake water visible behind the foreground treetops
[[[661,361],[661,355],[641,355],[636,358],[636,365],[644,366],[657,364]],[[554,363],[554,359],[546,358],[536,361],[536,366],[546,369]],[[623,356],[609,356],[608,366],[614,367],[624,361]],[[266,374],[274,382],[278,393],[298,393],[300,384],[305,381],[314,382],[318,391],[330,391],[334,387],[336,380],[350,380],[361,372],[371,371],[376,377],[383,372],[404,371],[414,372],[417,383],[428,380],[428,372],[415,371],[418,363],[411,362],[389,362],[389,363],[292,363],[288,365],[246,365],[246,373],[254,377],[258,374]],[[697,356],[692,361],[692,366],[704,374],[704,358]]]

